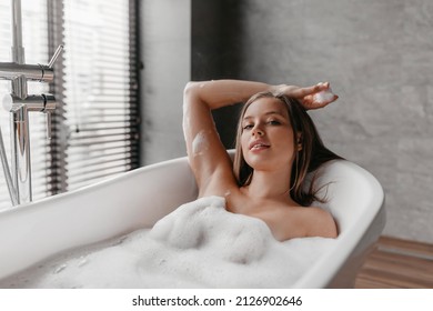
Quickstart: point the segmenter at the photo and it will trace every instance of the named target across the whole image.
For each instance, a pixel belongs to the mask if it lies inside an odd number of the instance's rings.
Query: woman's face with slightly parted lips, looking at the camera
[[[275,98],[260,98],[248,107],[241,124],[242,153],[251,168],[291,168],[293,129],[284,103]]]

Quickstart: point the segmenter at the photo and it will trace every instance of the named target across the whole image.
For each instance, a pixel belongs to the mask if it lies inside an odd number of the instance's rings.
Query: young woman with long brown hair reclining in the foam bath
[[[229,211],[263,220],[280,241],[335,238],[329,212],[304,208],[318,200],[313,187],[302,189],[308,172],[340,158],[323,146],[305,109],[336,99],[329,83],[299,88],[240,80],[189,82],[183,132],[199,197],[224,197]],[[232,163],[211,110],[245,101]]]

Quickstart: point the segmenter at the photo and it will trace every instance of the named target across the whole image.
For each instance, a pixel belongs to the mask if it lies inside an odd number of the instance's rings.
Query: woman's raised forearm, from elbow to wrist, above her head
[[[185,97],[201,101],[210,109],[244,102],[253,94],[272,90],[274,87],[255,81],[242,80],[212,80],[189,82],[185,87]]]

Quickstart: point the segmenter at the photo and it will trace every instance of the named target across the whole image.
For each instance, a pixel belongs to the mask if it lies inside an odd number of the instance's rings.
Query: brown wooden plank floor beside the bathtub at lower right
[[[381,237],[355,288],[433,289],[433,244]]]

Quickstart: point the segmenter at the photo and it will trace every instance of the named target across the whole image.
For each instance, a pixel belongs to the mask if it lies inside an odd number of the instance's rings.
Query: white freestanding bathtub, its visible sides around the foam
[[[355,275],[380,237],[384,193],[361,167],[334,160],[321,168],[326,205],[340,235],[335,251],[319,258],[293,288],[353,288]],[[197,199],[187,158],[143,167],[77,191],[0,212],[0,280],[54,254],[151,228]]]

